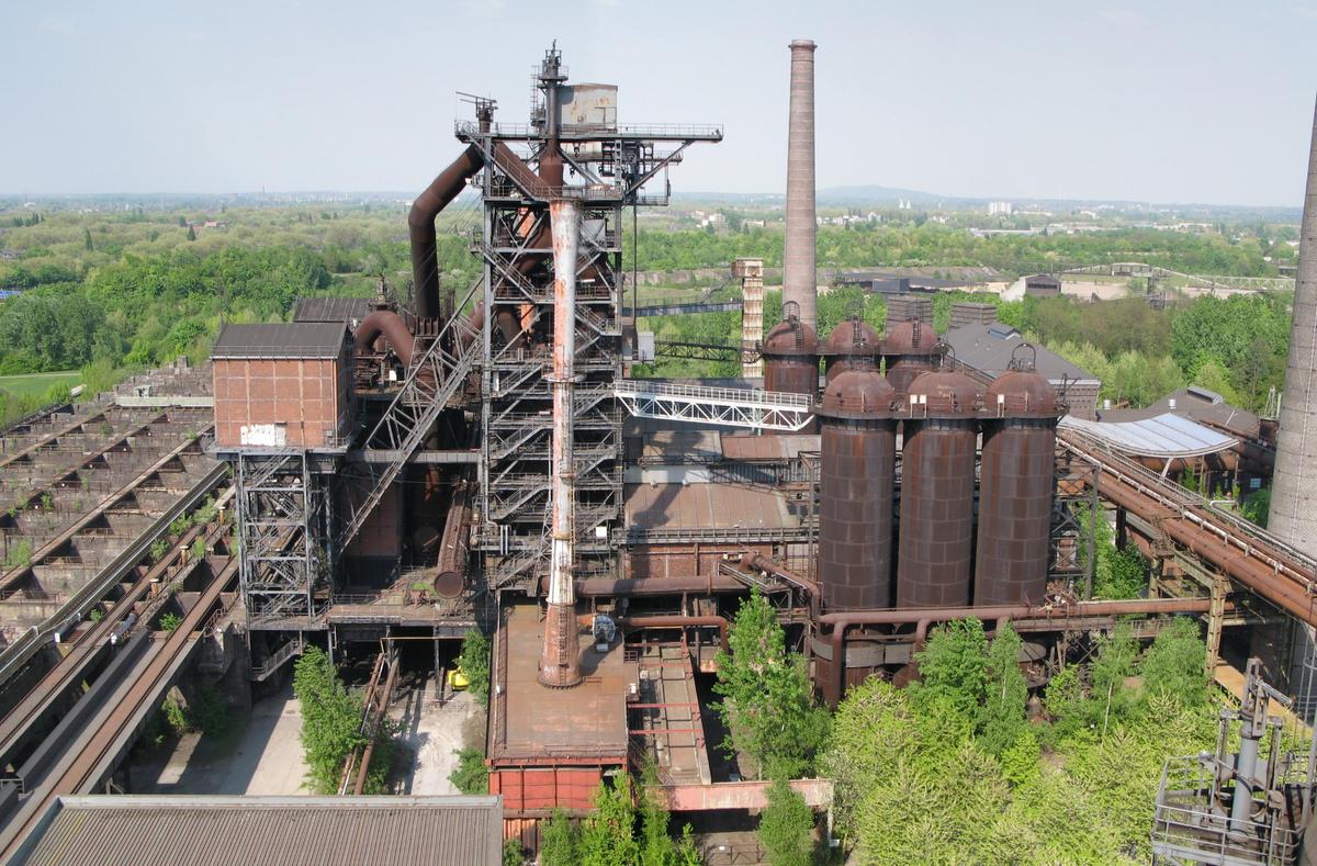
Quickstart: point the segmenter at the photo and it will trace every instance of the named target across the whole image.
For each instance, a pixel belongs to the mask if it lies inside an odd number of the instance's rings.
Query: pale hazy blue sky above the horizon
[[[0,192],[420,190],[454,91],[522,121],[553,38],[623,122],[726,124],[677,190],[780,192],[797,37],[819,187],[1303,199],[1317,0],[0,0]]]

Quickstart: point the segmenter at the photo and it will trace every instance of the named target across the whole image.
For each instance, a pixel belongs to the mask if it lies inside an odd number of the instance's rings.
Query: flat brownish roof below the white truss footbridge
[[[781,529],[801,525],[776,490],[734,484],[628,484],[633,529]]]

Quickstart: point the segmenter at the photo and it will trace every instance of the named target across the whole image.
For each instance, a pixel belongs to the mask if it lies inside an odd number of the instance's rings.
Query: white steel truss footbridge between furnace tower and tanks
[[[639,419],[795,432],[814,417],[813,400],[807,396],[755,388],[624,379],[615,384],[614,395]]]

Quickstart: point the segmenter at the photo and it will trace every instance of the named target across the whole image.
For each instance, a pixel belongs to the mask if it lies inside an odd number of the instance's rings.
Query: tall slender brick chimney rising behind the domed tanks
[[[814,263],[814,42],[792,49],[792,108],[786,136],[786,249],[782,301],[795,301],[801,321],[815,328],[818,282]]]

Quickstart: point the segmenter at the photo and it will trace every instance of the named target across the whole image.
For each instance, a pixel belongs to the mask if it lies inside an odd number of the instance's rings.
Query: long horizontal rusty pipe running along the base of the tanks
[[[994,607],[923,608],[901,611],[852,611],[847,613],[824,613],[818,617],[819,625],[831,625],[828,645],[832,650],[830,700],[835,707],[846,694],[846,633],[856,625],[906,625],[917,623],[927,636],[934,623],[964,620],[1055,620],[1056,630],[1065,628],[1065,620],[1089,616],[1123,616],[1129,613],[1206,613],[1212,599],[1131,599],[1127,601],[1077,601],[1064,607],[1029,607],[1025,604]]]

